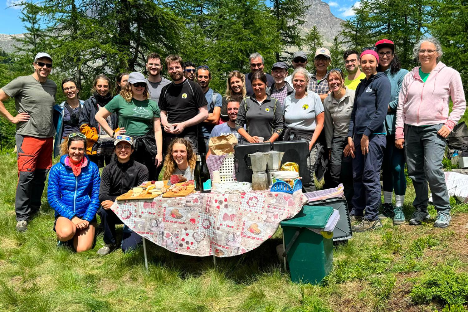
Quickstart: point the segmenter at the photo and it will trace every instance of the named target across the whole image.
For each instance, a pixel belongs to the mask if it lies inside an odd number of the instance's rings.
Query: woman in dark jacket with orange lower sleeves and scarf
[[[83,103],[79,125],[81,133],[83,133],[87,139],[86,154],[89,160],[101,168],[104,167],[104,161],[106,165],[109,165],[112,160],[112,146],[114,141],[94,118],[96,113],[112,100],[110,80],[106,75],[96,76],[91,94],[91,97]],[[120,130],[118,130],[117,114],[109,116],[107,118],[107,123],[112,130],[120,134]]]

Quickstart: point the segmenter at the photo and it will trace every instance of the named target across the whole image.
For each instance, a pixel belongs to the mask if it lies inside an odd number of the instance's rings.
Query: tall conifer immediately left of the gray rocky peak
[[[308,9],[305,0],[272,0],[271,14],[276,19],[276,30],[281,36],[282,53],[276,52],[276,61],[284,61],[285,55],[292,56],[291,47],[301,49],[300,31],[305,24]]]

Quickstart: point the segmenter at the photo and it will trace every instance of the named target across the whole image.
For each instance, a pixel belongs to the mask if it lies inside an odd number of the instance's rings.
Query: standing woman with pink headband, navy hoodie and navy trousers
[[[344,156],[353,158],[352,171],[354,196],[351,220],[354,232],[363,232],[382,227],[378,218],[380,206],[380,167],[383,151],[387,144],[385,117],[390,102],[391,85],[385,73],[377,73],[379,55],[369,49],[359,59],[366,78],[361,80],[354,97],[353,110],[348,131],[348,145]],[[366,214],[364,215],[364,210]]]

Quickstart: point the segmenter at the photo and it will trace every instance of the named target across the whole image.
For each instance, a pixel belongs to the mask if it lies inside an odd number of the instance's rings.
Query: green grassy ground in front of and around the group
[[[331,312],[467,311],[468,205],[451,201],[452,225],[394,226],[355,234],[334,247],[334,268],[321,286],[292,283],[275,248],[281,233],[232,258],[173,254],[150,244],[106,257],[56,247],[53,211],[15,232],[16,161],[0,156],[0,311]],[[404,213],[412,213],[409,184]],[[121,231],[121,230],[120,230]]]

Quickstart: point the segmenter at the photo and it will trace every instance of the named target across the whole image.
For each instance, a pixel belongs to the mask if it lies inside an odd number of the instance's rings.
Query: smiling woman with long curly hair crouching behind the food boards
[[[195,153],[189,141],[184,138],[174,138],[169,144],[164,160],[163,180],[169,180],[172,174],[183,174],[187,180],[193,180],[195,161]]]

